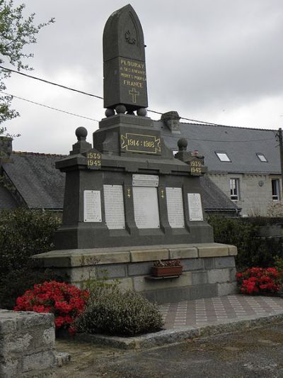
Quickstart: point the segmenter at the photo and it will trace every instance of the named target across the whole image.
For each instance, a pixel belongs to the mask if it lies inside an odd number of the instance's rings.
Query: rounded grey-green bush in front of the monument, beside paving
[[[162,315],[155,304],[135,291],[117,288],[100,290],[99,297],[91,295],[76,321],[78,332],[120,336],[155,332],[162,326]]]

